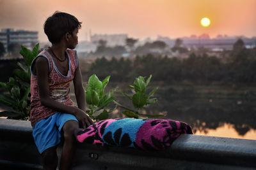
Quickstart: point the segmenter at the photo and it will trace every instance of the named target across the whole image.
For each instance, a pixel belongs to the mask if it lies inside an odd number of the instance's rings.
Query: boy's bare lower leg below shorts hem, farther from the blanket
[[[56,170],[58,165],[58,157],[56,146],[48,148],[42,154],[43,167],[45,170]]]

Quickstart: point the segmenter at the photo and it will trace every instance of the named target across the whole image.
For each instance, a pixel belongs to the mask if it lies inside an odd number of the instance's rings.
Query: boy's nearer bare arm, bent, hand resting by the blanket
[[[49,83],[48,83],[48,61],[44,57],[38,57],[35,61],[36,66],[36,76],[37,76],[37,84],[38,91],[40,96],[41,103],[52,110],[56,110],[63,113],[70,113],[76,116],[77,120],[79,120],[83,127],[89,126],[92,124],[92,120],[84,113],[83,110],[79,108],[75,108],[73,106],[68,106],[54,99],[51,99],[49,96]]]

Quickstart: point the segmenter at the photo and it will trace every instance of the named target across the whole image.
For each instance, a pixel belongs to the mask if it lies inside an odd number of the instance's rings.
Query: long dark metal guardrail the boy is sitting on
[[[0,169],[42,169],[30,122],[0,118]],[[58,148],[61,155],[61,146]],[[73,169],[256,169],[256,140],[182,134],[157,152],[77,143]]]

